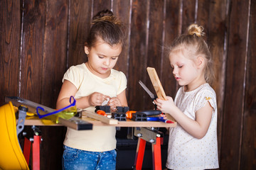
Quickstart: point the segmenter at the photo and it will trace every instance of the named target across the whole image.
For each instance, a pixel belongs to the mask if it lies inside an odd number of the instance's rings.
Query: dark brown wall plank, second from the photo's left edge
[[[21,42],[21,98],[41,103],[46,1],[25,1]]]

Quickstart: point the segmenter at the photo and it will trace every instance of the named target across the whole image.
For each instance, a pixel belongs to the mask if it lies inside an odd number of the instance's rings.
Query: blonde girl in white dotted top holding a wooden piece
[[[217,169],[217,102],[213,88],[213,61],[203,40],[203,27],[191,24],[169,49],[172,74],[178,85],[175,100],[155,100],[157,108],[170,114],[166,167],[168,169]]]

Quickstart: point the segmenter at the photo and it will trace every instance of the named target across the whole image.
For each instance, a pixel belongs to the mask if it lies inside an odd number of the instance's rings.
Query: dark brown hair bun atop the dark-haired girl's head
[[[117,24],[118,26],[122,25],[122,22],[119,21],[112,11],[105,9],[103,11],[98,12],[93,18],[92,18],[92,24],[98,23],[98,22],[110,22]]]

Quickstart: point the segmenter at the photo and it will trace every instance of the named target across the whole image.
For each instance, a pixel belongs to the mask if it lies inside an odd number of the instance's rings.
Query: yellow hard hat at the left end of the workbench
[[[16,132],[11,101],[0,107],[0,169],[28,169]]]

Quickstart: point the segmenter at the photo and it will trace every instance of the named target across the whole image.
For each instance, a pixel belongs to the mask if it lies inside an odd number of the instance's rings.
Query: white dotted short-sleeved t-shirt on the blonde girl
[[[174,103],[189,118],[196,119],[196,111],[206,102],[213,107],[213,115],[206,135],[198,140],[178,125],[170,128],[166,167],[169,169],[217,169],[217,102],[215,91],[203,84],[193,91],[178,89]]]

